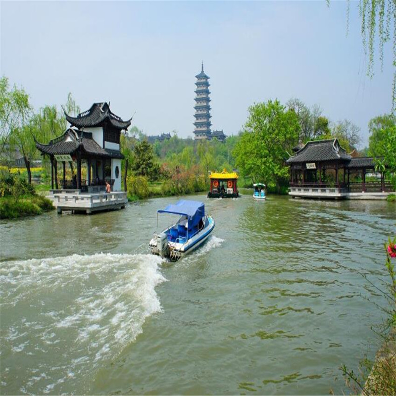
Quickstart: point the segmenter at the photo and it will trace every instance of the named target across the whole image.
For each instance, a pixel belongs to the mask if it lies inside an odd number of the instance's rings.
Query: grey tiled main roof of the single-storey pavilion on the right
[[[295,155],[286,162],[288,164],[319,162],[319,161],[349,161],[351,156],[342,148],[337,139],[317,140],[307,142]]]

